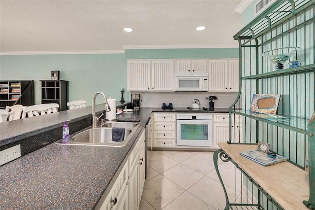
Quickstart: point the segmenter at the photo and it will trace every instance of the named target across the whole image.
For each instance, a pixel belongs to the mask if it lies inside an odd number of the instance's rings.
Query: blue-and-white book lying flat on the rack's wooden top
[[[268,157],[267,153],[261,152],[257,149],[241,152],[240,155],[263,166],[270,166],[287,160],[286,158],[278,154],[276,154],[276,158]]]

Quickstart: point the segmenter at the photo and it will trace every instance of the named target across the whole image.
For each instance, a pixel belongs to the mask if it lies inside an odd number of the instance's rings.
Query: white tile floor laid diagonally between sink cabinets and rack
[[[225,196],[213,152],[148,151],[149,170],[139,210],[222,210]],[[229,199],[235,197],[235,166],[219,160]],[[234,173],[234,174],[232,174]]]

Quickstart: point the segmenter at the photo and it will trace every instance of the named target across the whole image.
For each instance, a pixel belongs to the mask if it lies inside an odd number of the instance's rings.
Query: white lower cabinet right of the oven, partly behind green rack
[[[239,117],[239,115],[238,115]],[[232,138],[235,136],[235,141],[242,142],[242,118],[232,119]],[[213,115],[213,147],[220,148],[219,142],[229,140],[229,115],[214,114]]]

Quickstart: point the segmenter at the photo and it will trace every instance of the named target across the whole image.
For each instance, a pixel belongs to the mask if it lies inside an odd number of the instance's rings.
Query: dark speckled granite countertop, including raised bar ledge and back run
[[[96,109],[101,111],[102,106],[97,105]],[[165,112],[161,108],[141,108],[119,116],[140,117],[141,120],[138,130],[124,147],[50,143],[0,166],[1,209],[94,209],[103,193],[108,192],[105,190],[120,166],[126,162],[125,157],[152,111]],[[176,112],[176,110],[171,112]],[[183,110],[181,112],[207,113],[223,112],[223,110]],[[228,109],[224,109],[224,112],[228,112]],[[90,115],[91,107],[85,107],[41,116],[41,119],[37,117],[23,119],[15,122],[14,126],[25,126],[23,122],[26,121],[28,121],[28,126],[18,130],[15,133],[16,136],[2,130],[10,127],[9,123],[4,123],[0,125],[0,146],[1,141],[12,143],[14,140],[32,136],[33,133],[38,132],[38,129],[41,130],[40,132],[45,132],[47,126],[60,127],[66,119],[75,121],[75,119]],[[71,130],[71,125],[69,128]]]

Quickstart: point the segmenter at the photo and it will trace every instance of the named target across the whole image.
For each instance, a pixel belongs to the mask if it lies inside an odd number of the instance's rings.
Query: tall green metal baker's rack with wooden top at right
[[[221,143],[221,149],[214,153],[216,171],[225,192],[225,210],[315,209],[315,122],[309,120],[315,107],[315,0],[277,0],[234,35],[234,39],[239,42],[240,89],[230,106],[229,140]],[[287,62],[283,70],[276,70],[270,60],[261,56],[263,52],[284,47],[301,48],[290,57],[290,61],[299,60],[300,67],[288,68]],[[280,94],[277,115],[281,117],[250,113],[253,94]],[[238,116],[241,122],[231,120]],[[236,127],[243,128],[242,135],[234,130]],[[263,168],[246,162],[248,159],[240,157],[239,151],[254,148],[258,141],[269,143],[270,150],[286,157],[288,162]],[[233,178],[239,182],[234,193],[227,192],[219,159],[222,164],[235,165]],[[309,185],[304,180],[305,159],[309,160]],[[291,170],[287,172],[292,173],[289,176],[297,176],[292,187],[285,178],[285,187],[273,182],[283,176],[284,165]],[[270,175],[270,169],[278,174]],[[255,170],[261,170],[260,174]],[[309,189],[299,191],[298,184]],[[290,187],[291,192],[287,190]]]

